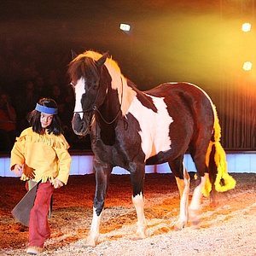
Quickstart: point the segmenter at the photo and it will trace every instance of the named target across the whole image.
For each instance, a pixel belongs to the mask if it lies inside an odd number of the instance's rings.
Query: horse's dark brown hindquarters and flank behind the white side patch
[[[173,120],[169,127],[170,150],[167,154],[151,156],[148,163],[160,159],[164,162],[166,156],[169,160],[176,159],[188,148],[195,152],[202,143],[208,145],[212,136],[214,111],[212,101],[204,90],[194,84],[166,83],[143,93],[162,98]]]

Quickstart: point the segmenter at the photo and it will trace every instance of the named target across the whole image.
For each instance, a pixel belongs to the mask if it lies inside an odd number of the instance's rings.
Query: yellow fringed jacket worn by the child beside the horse
[[[11,151],[10,169],[16,164],[23,165],[21,180],[28,180],[26,173],[34,169],[33,181],[45,183],[57,177],[67,184],[70,172],[71,156],[67,149],[69,145],[61,134],[55,136],[45,131],[44,135],[32,131],[32,127],[22,131],[16,138],[15,146]]]

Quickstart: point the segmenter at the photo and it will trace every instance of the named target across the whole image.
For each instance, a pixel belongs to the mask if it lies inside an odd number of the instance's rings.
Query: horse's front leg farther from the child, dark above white
[[[147,230],[147,221],[144,215],[144,180],[145,165],[131,164],[132,202],[137,212],[137,238],[145,238]]]

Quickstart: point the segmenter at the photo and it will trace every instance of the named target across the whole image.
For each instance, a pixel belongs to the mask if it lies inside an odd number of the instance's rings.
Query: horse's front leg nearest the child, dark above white
[[[112,167],[101,162],[94,161],[94,169],[96,171],[96,193],[93,204],[93,216],[90,225],[90,232],[85,240],[84,247],[96,247],[100,236],[100,221],[108,190],[108,180]]]

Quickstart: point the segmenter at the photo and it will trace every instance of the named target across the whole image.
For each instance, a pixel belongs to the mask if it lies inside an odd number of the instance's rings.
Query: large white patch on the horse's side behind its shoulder
[[[157,113],[152,109],[144,107],[137,99],[137,96],[133,98],[128,110],[128,113],[131,113],[141,126],[142,131],[139,131],[139,134],[142,138],[142,148],[145,154],[145,160],[158,154],[160,151],[169,150],[172,144],[169,132],[173,119],[167,111],[164,98],[155,96],[149,97],[153,99],[154,106],[157,108]]]

